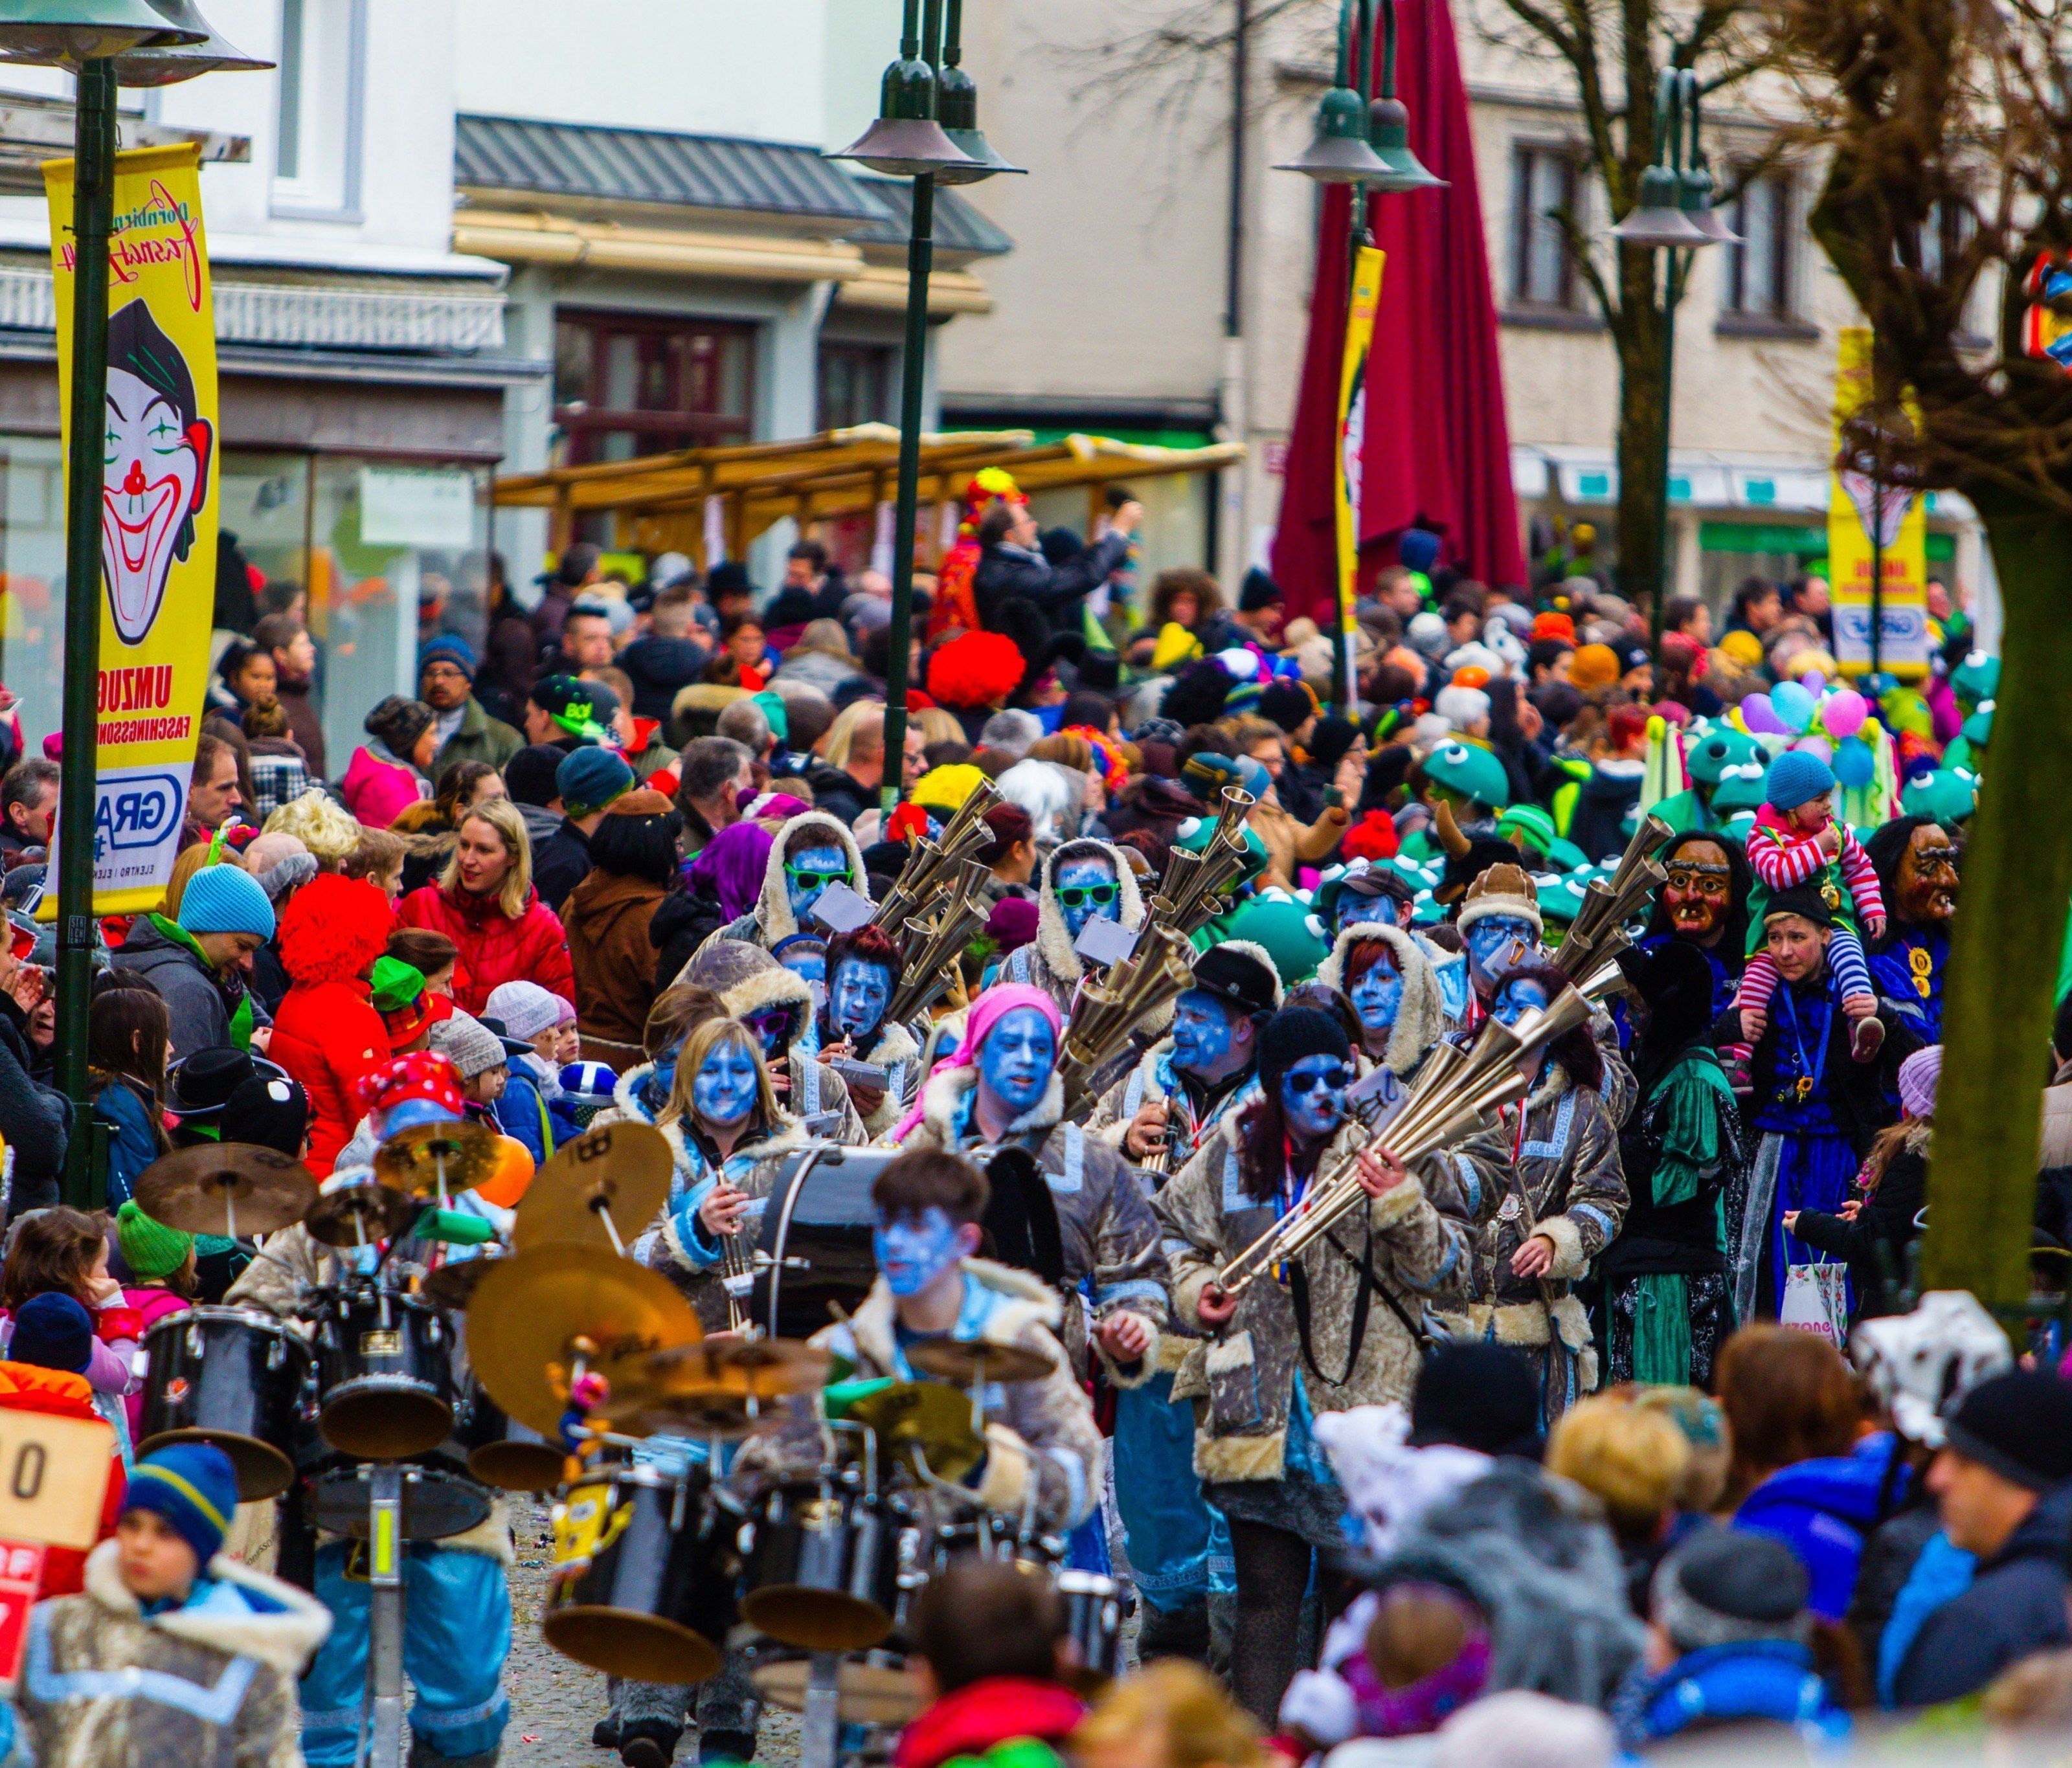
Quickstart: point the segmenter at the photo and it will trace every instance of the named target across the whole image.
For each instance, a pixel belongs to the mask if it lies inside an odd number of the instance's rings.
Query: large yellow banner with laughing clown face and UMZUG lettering
[[[58,408],[70,425],[73,162],[46,164],[44,187],[58,282]],[[151,908],[172,877],[207,690],[220,439],[201,151],[118,153],[102,456],[95,914]],[[56,850],[50,864],[56,877]]]

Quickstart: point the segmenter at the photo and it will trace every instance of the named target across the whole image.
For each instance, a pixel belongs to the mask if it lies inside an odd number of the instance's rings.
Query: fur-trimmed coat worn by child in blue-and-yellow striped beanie
[[[332,1615],[224,1555],[207,1577],[145,1619],[108,1540],[81,1596],[37,1604],[15,1706],[39,1768],[300,1768],[296,1677]]]

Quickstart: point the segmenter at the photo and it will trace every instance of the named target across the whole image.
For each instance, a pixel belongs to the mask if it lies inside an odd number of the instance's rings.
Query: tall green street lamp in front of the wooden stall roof
[[[893,510],[893,622],[885,663],[885,763],[879,808],[891,815],[905,794],[905,696],[914,651],[914,526],[920,508],[920,396],[928,369],[928,278],[934,274],[937,180],[974,184],[1009,166],[978,129],[978,87],[963,73],[963,0],[905,0],[899,60],[885,70],[879,120],[829,160],[856,160],[872,172],[914,180],[908,230],[905,361],[899,369],[899,491]],[[943,131],[947,116],[955,137]]]

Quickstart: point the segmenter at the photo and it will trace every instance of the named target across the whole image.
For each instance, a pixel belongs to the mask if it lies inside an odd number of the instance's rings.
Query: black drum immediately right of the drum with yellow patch
[[[864,1652],[899,1608],[899,1530],[843,1480],[777,1486],[756,1511],[742,1619],[806,1652]]]

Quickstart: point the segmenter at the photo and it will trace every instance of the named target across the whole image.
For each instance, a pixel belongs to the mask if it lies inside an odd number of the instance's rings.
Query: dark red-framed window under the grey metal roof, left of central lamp
[[[568,464],[746,441],[754,365],[752,325],[559,313],[553,421]]]

